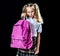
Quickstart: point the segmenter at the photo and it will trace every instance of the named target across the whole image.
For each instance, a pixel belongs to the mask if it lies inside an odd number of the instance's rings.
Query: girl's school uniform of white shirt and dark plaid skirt
[[[27,21],[31,23],[32,27],[32,39],[33,39],[33,46],[29,50],[22,50],[18,49],[17,55],[18,56],[37,56],[35,55],[34,48],[37,42],[37,32],[42,32],[42,24],[36,22],[35,18],[26,18]]]

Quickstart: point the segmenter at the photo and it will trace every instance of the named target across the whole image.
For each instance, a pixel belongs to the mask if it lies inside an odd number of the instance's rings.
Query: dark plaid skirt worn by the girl
[[[33,46],[31,47],[30,50],[22,50],[18,49],[17,51],[17,56],[37,56],[35,55],[34,48],[36,47],[36,37],[33,37]]]

